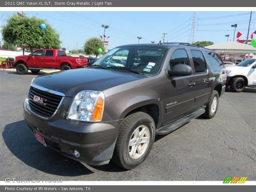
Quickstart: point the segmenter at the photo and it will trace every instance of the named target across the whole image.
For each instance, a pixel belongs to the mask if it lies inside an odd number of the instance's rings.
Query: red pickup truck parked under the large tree
[[[43,68],[68,70],[85,67],[87,58],[68,57],[66,52],[59,49],[37,49],[29,55],[15,57],[13,66],[20,75],[30,70],[38,73]]]

